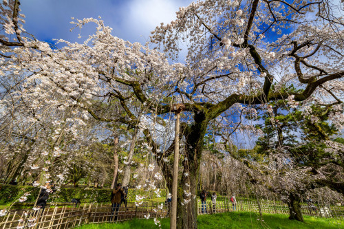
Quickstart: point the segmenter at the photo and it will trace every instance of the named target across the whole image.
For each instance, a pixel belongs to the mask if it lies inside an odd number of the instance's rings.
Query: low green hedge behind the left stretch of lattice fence
[[[39,188],[33,186],[17,186],[17,185],[1,185],[0,186],[0,204],[8,204],[16,201],[24,193],[30,192],[31,195],[25,202],[34,202],[39,194]],[[135,201],[136,195],[147,195],[146,190],[129,188],[128,201]],[[160,189],[160,197],[165,197],[166,191]],[[61,188],[59,192],[50,195],[49,201],[53,202],[70,202],[72,198],[80,199],[81,203],[89,202],[109,202],[111,197],[110,188]],[[150,196],[146,199],[157,198],[157,195],[152,191]]]

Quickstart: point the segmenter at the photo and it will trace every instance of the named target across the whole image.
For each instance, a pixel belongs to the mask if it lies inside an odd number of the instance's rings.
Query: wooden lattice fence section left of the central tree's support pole
[[[169,213],[167,206],[149,201],[140,206],[128,202],[127,209],[124,204],[118,212],[111,210],[111,204],[83,204],[78,208],[68,206],[45,208],[42,210],[20,210],[8,212],[5,217],[0,217],[0,229],[10,228],[76,228],[87,223],[104,223],[127,221],[131,219],[144,219],[166,217]]]

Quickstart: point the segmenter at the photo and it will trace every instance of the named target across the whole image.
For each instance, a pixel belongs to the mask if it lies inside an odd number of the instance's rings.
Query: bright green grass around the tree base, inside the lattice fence
[[[305,222],[292,221],[288,215],[264,214],[263,221],[253,212],[226,212],[215,215],[200,215],[197,217],[198,228],[274,228],[274,229],[334,229],[344,228],[344,221],[305,216]],[[169,219],[161,219],[162,228],[169,228]],[[126,221],[125,223],[102,223],[81,226],[79,229],[129,229],[129,228],[158,228],[153,219]]]

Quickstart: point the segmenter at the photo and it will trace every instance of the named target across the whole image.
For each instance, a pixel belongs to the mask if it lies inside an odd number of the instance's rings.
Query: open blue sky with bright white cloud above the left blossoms
[[[78,41],[78,30],[69,32],[71,17],[102,17],[105,25],[113,28],[113,35],[131,42],[145,43],[150,32],[161,22],[175,19],[179,7],[191,0],[25,0],[21,13],[25,14],[25,30],[41,41],[65,39]],[[94,32],[87,27],[81,35]]]

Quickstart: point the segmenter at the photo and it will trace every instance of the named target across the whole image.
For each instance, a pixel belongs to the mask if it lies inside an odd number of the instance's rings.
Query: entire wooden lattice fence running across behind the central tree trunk
[[[261,212],[272,214],[289,214],[286,204],[276,203],[275,201],[237,201],[233,206],[229,201],[217,201],[214,205],[211,201],[203,204],[199,201],[198,214],[213,214],[219,212],[231,212],[235,210],[247,212]],[[316,209],[302,206],[303,215],[316,215],[318,217],[333,217],[344,219],[343,206],[314,205]],[[87,223],[104,223],[127,221],[131,219],[164,218],[169,216],[169,206],[155,201],[143,202],[136,206],[134,202],[128,202],[127,208],[124,204],[119,208],[117,214],[111,211],[111,204],[82,204],[78,208],[70,206],[45,208],[42,210],[18,210],[11,211],[5,217],[0,217],[0,229],[10,228],[76,228]]]

